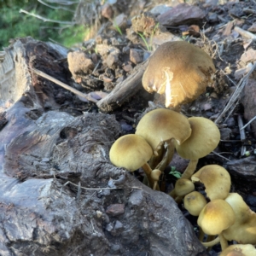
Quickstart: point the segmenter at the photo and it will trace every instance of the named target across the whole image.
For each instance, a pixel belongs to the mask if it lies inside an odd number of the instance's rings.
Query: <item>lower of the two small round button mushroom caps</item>
[[[198,191],[193,191],[184,197],[184,207],[193,216],[198,216],[207,205],[207,200]]]

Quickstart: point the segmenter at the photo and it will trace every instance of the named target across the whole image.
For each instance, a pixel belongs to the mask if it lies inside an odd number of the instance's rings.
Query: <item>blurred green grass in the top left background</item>
[[[73,12],[63,9],[50,9],[38,1],[3,1],[0,0],[0,50],[9,45],[10,38],[32,38],[56,42],[67,47],[83,42],[87,30],[84,26],[67,26],[58,23],[44,22],[35,17],[20,13],[20,9],[44,16],[52,20],[72,21]],[[75,5],[73,6],[73,11]]]

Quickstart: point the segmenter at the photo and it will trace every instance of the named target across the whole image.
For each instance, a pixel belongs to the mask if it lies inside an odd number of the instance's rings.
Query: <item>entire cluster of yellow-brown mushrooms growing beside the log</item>
[[[256,213],[241,195],[230,193],[230,174],[224,167],[208,165],[195,172],[197,162],[218,146],[217,125],[203,117],[187,118],[179,113],[186,102],[195,100],[212,81],[215,67],[203,50],[186,42],[160,45],[143,74],[143,87],[166,96],[166,108],[146,113],[135,134],[117,139],[109,151],[114,166],[129,172],[142,168],[143,183],[160,190],[160,179],[175,151],[189,165],[169,193],[183,201],[191,215],[198,216],[199,239],[206,247],[220,242],[224,255],[256,256]],[[169,109],[172,108],[172,109]],[[195,172],[195,174],[194,174]],[[195,190],[195,182],[206,188],[207,198]],[[203,241],[207,235],[207,241]],[[217,237],[215,237],[217,236]],[[238,244],[228,246],[228,241]],[[233,253],[233,254],[232,254]]]

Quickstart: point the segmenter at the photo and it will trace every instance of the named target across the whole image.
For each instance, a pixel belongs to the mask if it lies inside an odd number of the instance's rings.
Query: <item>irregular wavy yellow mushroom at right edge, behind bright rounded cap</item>
[[[224,230],[224,237],[229,241],[235,240],[242,244],[256,244],[256,213],[247,206],[241,195],[237,193],[230,193],[225,201],[233,208],[236,222]]]

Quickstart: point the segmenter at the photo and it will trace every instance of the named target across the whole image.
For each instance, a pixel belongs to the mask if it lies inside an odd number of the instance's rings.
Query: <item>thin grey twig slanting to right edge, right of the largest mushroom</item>
[[[240,80],[239,84],[237,84],[236,90],[234,91],[232,96],[230,96],[230,101],[225,106],[223,112],[219,114],[218,119],[215,120],[215,124],[218,124],[218,122],[223,118],[224,114],[228,112],[232,106],[234,106],[238,97],[241,95],[241,90],[247,84],[248,78],[251,75],[251,73],[253,73],[253,70],[255,69],[255,67],[256,67],[256,63],[253,64],[253,67],[251,68],[251,70]],[[234,108],[232,109],[232,111],[233,110]]]

